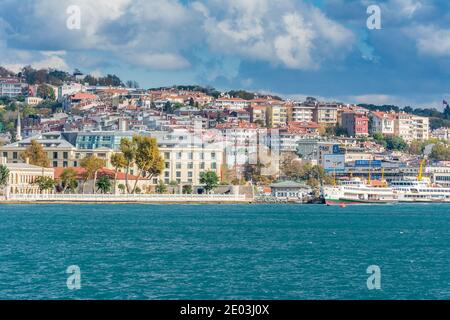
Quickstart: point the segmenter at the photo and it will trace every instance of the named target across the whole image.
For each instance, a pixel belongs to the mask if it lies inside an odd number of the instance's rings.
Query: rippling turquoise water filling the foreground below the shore
[[[432,298],[450,298],[445,204],[0,206],[0,299]]]

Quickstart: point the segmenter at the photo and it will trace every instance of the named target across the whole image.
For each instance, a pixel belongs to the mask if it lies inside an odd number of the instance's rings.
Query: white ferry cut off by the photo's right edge
[[[450,202],[450,188],[432,184],[429,178],[392,181],[400,202]]]

